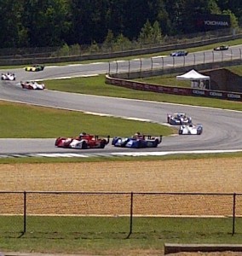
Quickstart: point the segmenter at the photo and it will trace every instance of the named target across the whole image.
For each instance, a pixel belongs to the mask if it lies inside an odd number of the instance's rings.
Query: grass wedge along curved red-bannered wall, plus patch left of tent
[[[156,81],[159,84],[167,84],[166,77],[152,78],[148,79],[148,81],[151,84],[155,84],[153,81]],[[241,102],[232,102],[200,96],[176,96],[142,90],[131,90],[111,84],[106,84],[105,75],[89,78],[61,79],[58,80],[58,82],[56,80],[47,80],[44,83],[49,90],[60,90],[97,96],[122,97],[153,102],[169,102],[208,108],[223,108],[242,111]],[[170,82],[170,86],[175,85],[176,81],[173,78]]]

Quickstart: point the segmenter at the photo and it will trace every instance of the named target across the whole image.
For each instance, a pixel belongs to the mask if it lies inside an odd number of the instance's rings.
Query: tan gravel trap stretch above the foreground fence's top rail
[[[0,165],[2,190],[242,192],[242,158]]]

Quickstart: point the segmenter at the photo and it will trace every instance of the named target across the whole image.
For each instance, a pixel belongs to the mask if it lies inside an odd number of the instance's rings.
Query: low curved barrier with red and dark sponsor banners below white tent
[[[133,89],[133,90],[146,90],[146,91],[153,91],[158,93],[167,93],[167,94],[184,95],[184,96],[204,96],[204,97],[212,97],[212,98],[242,102],[242,93],[231,92],[231,91],[201,90],[201,89],[193,89],[193,88],[173,87],[168,85],[147,84],[147,83],[131,81],[126,79],[116,79],[116,78],[110,77],[109,75],[106,76],[106,83]]]

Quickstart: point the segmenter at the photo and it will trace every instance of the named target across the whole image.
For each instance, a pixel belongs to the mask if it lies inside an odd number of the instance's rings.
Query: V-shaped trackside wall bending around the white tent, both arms
[[[234,84],[231,87],[224,86],[224,90],[221,90],[221,89],[220,90],[217,90],[217,89],[201,90],[201,89],[174,87],[174,86],[169,86],[165,84],[164,85],[147,84],[147,83],[131,80],[131,79],[164,75],[167,73],[185,73],[191,70],[192,68],[195,68],[196,70],[207,70],[207,74],[209,74],[208,70],[218,69],[221,67],[236,66],[236,65],[241,65],[241,60],[202,63],[195,66],[171,67],[171,68],[163,68],[163,69],[137,71],[137,72],[131,72],[131,73],[112,73],[112,74],[110,73],[110,74],[107,74],[106,76],[106,83],[130,88],[134,90],[146,90],[146,91],[153,91],[158,93],[167,93],[167,94],[184,95],[184,96],[205,96],[205,97],[242,102],[242,93],[238,92],[239,90],[234,90]],[[241,80],[239,79],[239,81]]]

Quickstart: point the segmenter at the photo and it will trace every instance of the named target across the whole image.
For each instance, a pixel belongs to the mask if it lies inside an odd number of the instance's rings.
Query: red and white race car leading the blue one
[[[105,148],[109,143],[109,136],[107,138],[100,138],[97,135],[84,134],[79,137],[58,137],[55,140],[55,147],[58,148]]]

